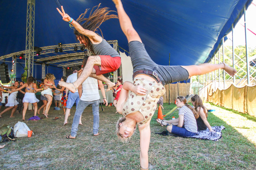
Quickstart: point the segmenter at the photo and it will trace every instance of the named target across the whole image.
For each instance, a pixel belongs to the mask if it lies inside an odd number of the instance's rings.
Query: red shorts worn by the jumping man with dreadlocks
[[[100,57],[101,57],[101,66],[94,66],[94,69],[96,70],[96,75],[114,72],[121,66],[120,57],[111,57],[111,56],[100,56]]]

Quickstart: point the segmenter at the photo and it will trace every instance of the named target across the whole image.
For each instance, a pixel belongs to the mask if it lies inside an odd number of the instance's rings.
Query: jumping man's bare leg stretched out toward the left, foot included
[[[73,93],[76,92],[76,89],[78,89],[79,85],[81,85],[92,73],[94,65],[101,66],[100,56],[89,56],[85,68],[82,70],[80,77],[74,83],[59,81],[59,85],[68,88]]]

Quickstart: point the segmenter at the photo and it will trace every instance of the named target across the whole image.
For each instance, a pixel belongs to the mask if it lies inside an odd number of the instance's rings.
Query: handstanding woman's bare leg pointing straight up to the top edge
[[[113,0],[114,4],[116,5],[117,8],[117,13],[118,13],[118,18],[119,18],[119,23],[121,26],[121,29],[126,35],[126,38],[128,42],[130,41],[139,41],[142,42],[142,40],[139,37],[139,34],[135,31],[132,25],[132,21],[124,11],[123,5],[121,0]]]

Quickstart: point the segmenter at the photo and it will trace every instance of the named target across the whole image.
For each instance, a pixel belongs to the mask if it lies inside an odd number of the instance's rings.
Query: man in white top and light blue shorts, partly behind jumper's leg
[[[74,66],[72,68],[73,68],[73,74],[69,75],[69,77],[66,80],[67,83],[73,83],[78,78],[77,72],[78,72],[79,68],[77,66]],[[76,107],[77,107],[78,102],[80,100],[78,90],[76,90],[76,92],[74,92],[74,93],[72,93],[71,91],[69,93],[68,92],[69,92],[69,89],[66,88],[66,98],[68,98],[68,100],[66,103],[66,114],[65,114],[65,120],[64,120],[63,125],[66,125],[68,123],[68,117],[70,116],[70,110],[71,110],[72,106],[74,105],[74,103],[76,103]],[[81,119],[80,119],[79,124],[82,124]]]

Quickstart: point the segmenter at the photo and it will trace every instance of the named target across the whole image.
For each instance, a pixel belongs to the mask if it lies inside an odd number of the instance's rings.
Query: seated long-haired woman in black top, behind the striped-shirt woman
[[[193,106],[196,108],[199,117],[196,119],[197,121],[197,130],[206,130],[206,127],[209,129],[210,132],[215,132],[212,130],[212,127],[207,121],[208,113],[205,106],[203,106],[203,101],[198,95],[194,95],[191,98],[191,102]]]

